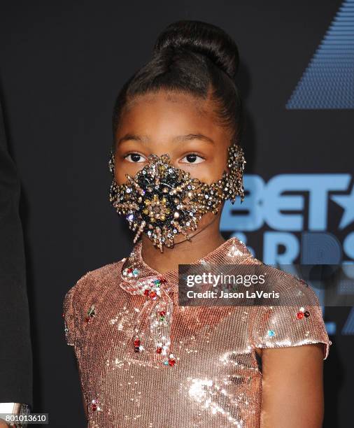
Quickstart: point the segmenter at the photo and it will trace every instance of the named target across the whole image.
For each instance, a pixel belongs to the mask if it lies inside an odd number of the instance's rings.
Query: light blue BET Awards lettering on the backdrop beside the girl
[[[241,204],[225,202],[220,230],[232,232],[248,250],[266,264],[339,264],[354,260],[354,185],[348,173],[281,174],[265,183],[263,178],[245,174],[246,197]],[[328,231],[330,202],[341,210],[338,229],[344,231],[339,242]],[[247,244],[247,231],[265,227],[263,254]],[[347,233],[346,233],[347,231]],[[281,252],[279,249],[282,249]],[[295,273],[295,272],[294,272]],[[320,304],[324,292],[318,293]],[[323,309],[324,311],[324,309]],[[326,322],[328,334],[336,331],[335,322]],[[354,334],[354,310],[344,326],[343,334]]]

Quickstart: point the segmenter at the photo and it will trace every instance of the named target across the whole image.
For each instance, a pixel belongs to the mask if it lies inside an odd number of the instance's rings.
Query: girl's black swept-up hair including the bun
[[[238,48],[224,30],[201,21],[169,24],[157,37],[153,57],[118,94],[113,108],[113,152],[127,101],[160,90],[185,92],[202,99],[211,94],[220,124],[232,131],[230,143],[239,143],[243,109],[234,81],[238,68]]]

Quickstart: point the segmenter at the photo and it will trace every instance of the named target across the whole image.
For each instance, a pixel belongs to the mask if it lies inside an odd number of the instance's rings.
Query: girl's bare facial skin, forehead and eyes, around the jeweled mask
[[[194,178],[211,184],[227,169],[229,131],[218,124],[215,106],[209,100],[189,94],[160,91],[135,97],[125,108],[115,136],[115,181],[125,183],[125,174],[134,176],[148,164],[148,156],[168,153],[171,164]],[[213,220],[206,213],[198,229]],[[218,222],[215,227],[218,229]],[[175,242],[183,241],[182,235]]]

